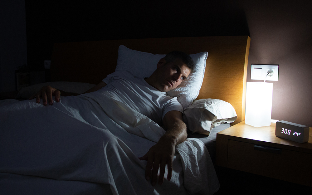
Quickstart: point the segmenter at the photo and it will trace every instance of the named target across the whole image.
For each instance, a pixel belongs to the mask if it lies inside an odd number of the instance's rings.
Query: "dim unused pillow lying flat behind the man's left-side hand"
[[[82,94],[85,91],[95,86],[95,84],[90,84],[90,83],[67,82],[67,81],[39,83],[36,85],[31,85],[31,86],[22,88],[18,92],[16,98],[28,99],[30,98],[30,96],[34,95],[39,90],[41,90],[43,86],[47,86],[47,85],[50,85],[51,87],[54,87],[58,90],[71,92],[71,93],[77,93],[77,94]]]

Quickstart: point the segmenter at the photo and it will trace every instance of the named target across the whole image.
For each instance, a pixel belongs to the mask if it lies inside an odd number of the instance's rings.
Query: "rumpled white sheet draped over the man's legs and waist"
[[[47,106],[35,99],[1,105],[0,186],[10,173],[109,184],[122,195],[215,193],[217,175],[198,139],[176,147],[170,181],[167,169],[162,186],[145,179],[146,161],[138,157],[164,133],[108,92],[61,97]]]

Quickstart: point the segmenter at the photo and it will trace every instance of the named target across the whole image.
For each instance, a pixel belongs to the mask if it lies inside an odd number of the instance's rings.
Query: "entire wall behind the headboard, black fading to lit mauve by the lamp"
[[[56,42],[110,39],[251,37],[251,64],[279,65],[272,119],[312,127],[312,3],[303,1],[0,2],[0,92],[15,90],[14,70],[44,70]],[[116,51],[117,52],[117,51]]]

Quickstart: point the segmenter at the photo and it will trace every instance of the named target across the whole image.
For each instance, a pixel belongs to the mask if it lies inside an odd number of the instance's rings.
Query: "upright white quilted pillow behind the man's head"
[[[178,98],[183,109],[191,105],[199,94],[205,74],[207,55],[207,52],[191,54],[195,63],[194,73],[190,74],[188,79],[177,88],[167,92],[169,96]],[[140,78],[149,77],[157,69],[158,61],[164,56],[166,55],[135,51],[121,45],[115,71],[126,70]]]

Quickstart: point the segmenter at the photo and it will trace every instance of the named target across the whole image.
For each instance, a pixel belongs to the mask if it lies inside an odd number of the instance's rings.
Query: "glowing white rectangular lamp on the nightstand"
[[[254,127],[271,125],[273,83],[246,83],[245,124]]]

